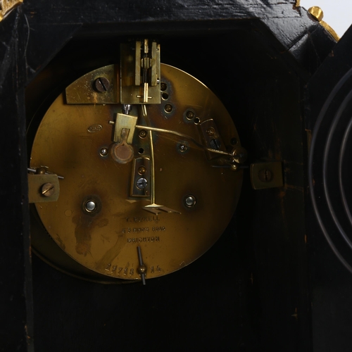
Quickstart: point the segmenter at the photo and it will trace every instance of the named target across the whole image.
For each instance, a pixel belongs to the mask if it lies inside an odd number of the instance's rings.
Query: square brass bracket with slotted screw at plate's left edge
[[[60,194],[58,175],[28,174],[28,198],[30,203],[57,201]]]

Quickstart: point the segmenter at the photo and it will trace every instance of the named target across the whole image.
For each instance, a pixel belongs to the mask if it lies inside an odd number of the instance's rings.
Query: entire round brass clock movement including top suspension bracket
[[[120,63],[68,85],[35,132],[33,249],[71,275],[145,282],[175,272],[236,208],[246,151],[234,122],[160,52],[148,39],[121,44]]]

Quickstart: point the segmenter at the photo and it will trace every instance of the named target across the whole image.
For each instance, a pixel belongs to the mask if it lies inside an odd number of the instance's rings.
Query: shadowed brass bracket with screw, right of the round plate
[[[250,177],[253,189],[266,189],[282,187],[282,163],[271,161],[266,163],[253,163],[250,167]]]

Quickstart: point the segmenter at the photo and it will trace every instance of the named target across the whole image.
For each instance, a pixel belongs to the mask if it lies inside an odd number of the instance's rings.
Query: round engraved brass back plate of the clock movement
[[[65,93],[44,115],[32,146],[31,168],[64,177],[58,201],[35,205],[46,231],[68,256],[108,277],[141,279],[138,246],[147,279],[188,265],[220,237],[239,199],[242,170],[201,147],[240,146],[229,113],[182,70],[162,64],[161,77],[161,104],[134,105],[130,113],[139,126],[170,132],[137,127],[132,161],[118,163],[110,152],[109,121],[122,106],[68,104]],[[157,206],[149,208],[153,194]]]

